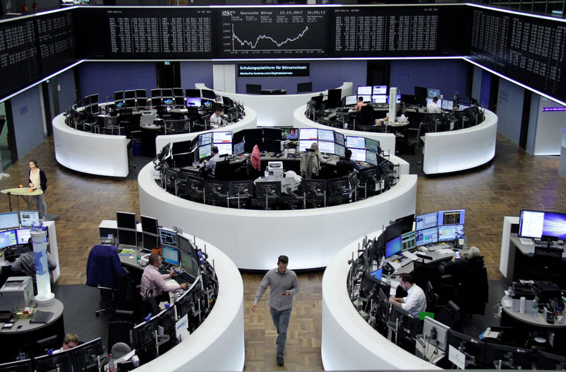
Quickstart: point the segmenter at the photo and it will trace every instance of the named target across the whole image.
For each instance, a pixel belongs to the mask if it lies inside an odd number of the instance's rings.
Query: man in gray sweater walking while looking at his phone
[[[293,308],[293,296],[299,292],[299,280],[296,279],[294,271],[287,269],[288,263],[289,257],[279,256],[277,268],[271,269],[265,274],[258,286],[258,293],[255,293],[252,305],[252,311],[255,311],[258,308],[261,296],[269,286],[271,318],[279,335],[277,336],[277,364],[279,366],[283,365],[283,352],[287,341],[287,327],[289,327],[291,309]]]

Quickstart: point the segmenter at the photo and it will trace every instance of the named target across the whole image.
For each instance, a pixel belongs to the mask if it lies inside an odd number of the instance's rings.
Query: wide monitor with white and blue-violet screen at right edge
[[[521,210],[519,236],[541,239],[543,236],[566,239],[566,214]]]

